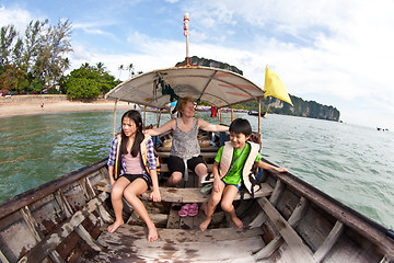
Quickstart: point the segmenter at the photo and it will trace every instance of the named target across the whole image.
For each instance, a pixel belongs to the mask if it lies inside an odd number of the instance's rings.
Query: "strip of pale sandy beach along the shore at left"
[[[66,96],[15,96],[12,100],[1,98],[0,117],[65,112],[114,111],[114,101],[81,102],[67,100]],[[116,105],[117,111],[131,108],[134,108],[134,104],[127,102],[118,102]]]

